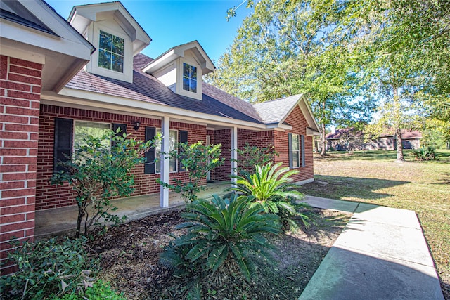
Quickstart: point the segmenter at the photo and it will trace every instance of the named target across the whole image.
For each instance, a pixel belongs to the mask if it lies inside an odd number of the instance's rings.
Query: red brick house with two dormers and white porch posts
[[[34,236],[34,211],[75,204],[68,186],[49,183],[58,162],[86,131],[120,128],[162,145],[133,170],[133,195],[169,190],[157,178],[186,179],[179,162],[155,163],[176,142],[220,143],[224,165],[211,180],[234,174],[236,148],[273,146],[276,162],[314,181],[312,137],[319,126],[302,95],[252,105],[206,84],[214,65],[192,41],[158,58],[140,53],[150,37],[120,2],[75,6],[69,22],[44,1],[1,1],[1,260],[7,241]]]

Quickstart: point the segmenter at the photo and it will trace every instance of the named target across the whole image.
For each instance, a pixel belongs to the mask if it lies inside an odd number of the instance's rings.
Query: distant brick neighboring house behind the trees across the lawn
[[[380,134],[378,138],[364,142],[364,133],[355,131],[353,128],[336,129],[326,135],[327,149],[336,151],[350,150],[395,150],[397,149],[397,140],[394,133],[387,132]],[[422,133],[419,131],[401,130],[401,145],[404,149],[420,148],[420,138]]]

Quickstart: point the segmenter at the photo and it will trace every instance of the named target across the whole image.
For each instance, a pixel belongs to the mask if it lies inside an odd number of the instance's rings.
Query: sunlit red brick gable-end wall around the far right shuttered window
[[[295,168],[300,174],[293,176],[294,181],[303,181],[314,178],[314,167],[312,157],[312,136],[307,136],[308,122],[302,114],[300,107],[295,107],[293,112],[285,120],[293,126],[290,131],[275,131],[275,150],[280,156],[275,158],[275,162],[283,162],[283,167],[289,167],[288,133],[295,133],[304,136],[305,167]]]

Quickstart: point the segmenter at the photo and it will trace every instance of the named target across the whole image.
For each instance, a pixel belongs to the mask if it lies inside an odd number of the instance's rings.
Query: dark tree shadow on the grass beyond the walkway
[[[302,185],[299,189],[306,195],[342,200],[344,197],[359,199],[381,199],[392,194],[378,193],[375,190],[392,188],[409,181],[392,181],[378,178],[358,178],[342,176],[314,176],[315,181]]]

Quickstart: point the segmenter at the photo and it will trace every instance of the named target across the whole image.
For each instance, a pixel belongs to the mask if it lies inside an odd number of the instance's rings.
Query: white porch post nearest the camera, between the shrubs
[[[165,159],[168,157],[169,153],[169,126],[170,126],[170,118],[162,117],[161,119],[161,133],[162,133],[162,143],[161,143],[161,181],[165,183],[169,183],[169,159]],[[169,189],[164,188],[161,185],[160,188],[160,206],[168,207],[169,206]]]

